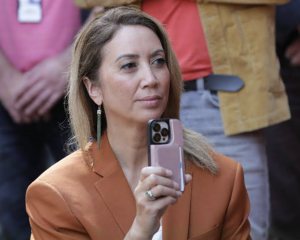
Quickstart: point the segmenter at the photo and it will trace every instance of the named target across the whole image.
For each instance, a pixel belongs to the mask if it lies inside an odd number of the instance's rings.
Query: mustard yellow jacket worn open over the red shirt
[[[135,0],[74,2],[82,8],[136,3]],[[238,92],[218,93],[227,135],[257,130],[290,118],[279,76],[274,34],[275,5],[287,2],[197,0],[213,72],[238,75],[245,82]]]

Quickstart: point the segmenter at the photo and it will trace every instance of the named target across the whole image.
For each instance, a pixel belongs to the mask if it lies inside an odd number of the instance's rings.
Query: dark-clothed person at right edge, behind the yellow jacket
[[[276,48],[291,119],[265,130],[271,192],[269,240],[300,239],[300,1],[276,9]]]

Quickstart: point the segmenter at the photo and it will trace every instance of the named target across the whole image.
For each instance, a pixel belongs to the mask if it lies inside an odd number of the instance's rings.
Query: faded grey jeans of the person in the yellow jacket
[[[197,80],[197,88],[197,91],[186,91],[182,94],[182,125],[201,133],[218,152],[241,163],[251,204],[251,237],[253,240],[266,240],[270,197],[263,132],[258,130],[226,136],[217,94],[203,89],[203,79]]]

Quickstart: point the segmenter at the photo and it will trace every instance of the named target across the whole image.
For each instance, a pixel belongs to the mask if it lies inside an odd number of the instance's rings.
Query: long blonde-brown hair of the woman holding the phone
[[[72,127],[72,142],[85,150],[89,138],[96,138],[97,105],[91,100],[83,83],[88,77],[99,84],[99,69],[103,58],[103,46],[108,43],[122,26],[142,25],[150,28],[160,39],[166,54],[170,72],[170,92],[167,107],[162,118],[179,119],[180,95],[183,89],[182,76],[176,56],[163,26],[151,16],[131,7],[115,7],[104,11],[87,24],[77,35],[70,68],[68,88],[68,108]],[[103,112],[104,109],[103,109]],[[102,117],[102,133],[107,127],[106,117]],[[183,129],[186,162],[216,174],[217,164],[213,161],[213,148],[200,134]],[[85,152],[85,151],[83,151]]]

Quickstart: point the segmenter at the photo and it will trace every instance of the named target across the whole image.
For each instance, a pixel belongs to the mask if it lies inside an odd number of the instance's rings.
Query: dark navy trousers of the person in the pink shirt
[[[28,240],[30,237],[25,193],[28,185],[47,167],[45,146],[56,161],[66,155],[63,147],[68,129],[59,126],[66,118],[63,104],[58,103],[51,114],[47,122],[18,125],[0,104],[1,240]]]

